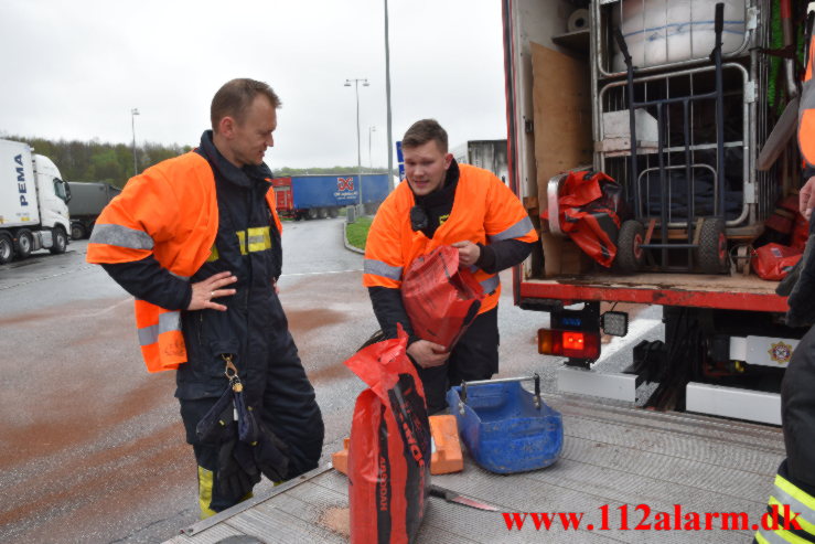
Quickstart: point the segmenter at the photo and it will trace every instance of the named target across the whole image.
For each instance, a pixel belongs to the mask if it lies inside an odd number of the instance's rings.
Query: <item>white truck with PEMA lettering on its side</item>
[[[0,140],[0,265],[41,248],[68,245],[71,190],[47,157],[28,143]]]

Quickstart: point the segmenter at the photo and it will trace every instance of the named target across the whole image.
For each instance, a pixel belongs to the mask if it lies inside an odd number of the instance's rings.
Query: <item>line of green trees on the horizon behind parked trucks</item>
[[[133,175],[133,148],[127,143],[109,143],[98,140],[49,140],[23,136],[2,136],[3,139],[23,141],[44,154],[56,164],[63,178],[71,181],[104,181],[116,186],[125,186]],[[172,157],[190,151],[190,146],[164,146],[146,142],[136,147],[138,171]],[[387,168],[363,168],[363,173],[385,173]],[[331,168],[288,168],[274,169],[275,175],[303,174],[352,174],[357,167]]]

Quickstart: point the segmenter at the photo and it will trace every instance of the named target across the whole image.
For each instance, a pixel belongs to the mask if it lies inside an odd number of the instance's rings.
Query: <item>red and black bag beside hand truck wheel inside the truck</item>
[[[569,172],[558,194],[560,230],[589,257],[610,267],[616,256],[622,186],[602,172]],[[549,211],[540,216],[548,221]]]

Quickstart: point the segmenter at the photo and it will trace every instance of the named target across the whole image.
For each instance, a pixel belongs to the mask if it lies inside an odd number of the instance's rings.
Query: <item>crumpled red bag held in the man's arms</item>
[[[410,263],[401,281],[401,300],[414,332],[452,350],[481,309],[484,289],[467,268],[459,250],[440,246]]]

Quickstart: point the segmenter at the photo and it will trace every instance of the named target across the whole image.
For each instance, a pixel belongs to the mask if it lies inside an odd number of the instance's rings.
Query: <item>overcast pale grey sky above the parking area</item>
[[[394,140],[437,118],[451,146],[506,137],[498,0],[389,0]],[[233,77],[283,102],[274,168],[387,164],[383,0],[2,0],[0,136],[195,146]]]

